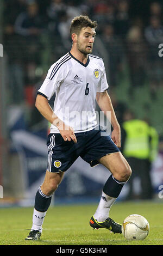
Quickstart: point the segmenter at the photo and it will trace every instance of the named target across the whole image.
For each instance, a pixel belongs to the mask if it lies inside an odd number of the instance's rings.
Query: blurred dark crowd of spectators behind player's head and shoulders
[[[47,69],[70,50],[70,22],[80,14],[98,22],[94,52],[104,59],[110,88],[128,74],[130,97],[147,84],[154,100],[163,89],[162,10],[161,1],[4,1],[9,102],[34,105]]]

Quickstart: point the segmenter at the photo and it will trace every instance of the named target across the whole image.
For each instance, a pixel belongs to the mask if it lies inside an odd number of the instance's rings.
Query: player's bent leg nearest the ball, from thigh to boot
[[[93,228],[109,228],[114,233],[121,233],[121,225],[109,218],[109,210],[121,193],[122,187],[131,175],[131,168],[120,152],[101,157],[98,160],[111,172],[109,179],[105,182],[102,197],[95,214],[90,220]]]

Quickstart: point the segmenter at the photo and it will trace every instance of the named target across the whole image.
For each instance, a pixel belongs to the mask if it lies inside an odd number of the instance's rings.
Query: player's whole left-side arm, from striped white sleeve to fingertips
[[[62,59],[49,68],[47,76],[38,90],[35,106],[43,117],[59,129],[64,141],[71,141],[72,139],[74,143],[76,143],[77,138],[73,128],[59,119],[48,103],[55,91],[59,88],[60,83],[65,79],[68,70],[66,66],[62,64],[66,63],[70,58],[70,55],[67,53]]]

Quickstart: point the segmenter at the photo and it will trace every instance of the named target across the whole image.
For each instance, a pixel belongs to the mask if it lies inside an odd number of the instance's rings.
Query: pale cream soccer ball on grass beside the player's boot
[[[148,233],[149,223],[141,215],[129,215],[122,223],[122,234],[127,240],[143,240]]]

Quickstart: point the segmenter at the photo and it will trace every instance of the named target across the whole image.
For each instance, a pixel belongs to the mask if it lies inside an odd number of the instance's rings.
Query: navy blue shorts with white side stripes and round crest
[[[47,139],[49,172],[65,172],[80,156],[91,167],[99,164],[98,160],[110,153],[120,151],[106,131],[93,129],[75,133],[77,143],[64,141],[60,133],[50,133]]]

